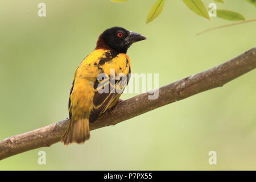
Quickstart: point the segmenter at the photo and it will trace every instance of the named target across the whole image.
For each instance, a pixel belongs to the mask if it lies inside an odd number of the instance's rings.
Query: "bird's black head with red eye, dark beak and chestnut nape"
[[[128,31],[125,28],[112,27],[100,35],[96,49],[113,49],[118,53],[126,53],[131,44],[145,39],[141,34]]]

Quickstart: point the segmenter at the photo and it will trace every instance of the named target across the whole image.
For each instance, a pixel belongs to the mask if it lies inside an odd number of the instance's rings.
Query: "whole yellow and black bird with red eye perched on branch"
[[[122,27],[108,28],[98,37],[96,48],[82,60],[73,78],[68,101],[69,124],[61,138],[64,145],[89,140],[89,123],[98,121],[120,101],[131,73],[127,49],[145,39]],[[117,75],[122,79],[116,78]]]

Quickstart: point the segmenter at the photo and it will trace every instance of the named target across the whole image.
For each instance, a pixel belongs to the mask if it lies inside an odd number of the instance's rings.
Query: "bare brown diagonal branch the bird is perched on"
[[[256,68],[256,47],[217,67],[159,88],[159,97],[156,100],[148,100],[150,93],[147,92],[119,102],[114,109],[108,111],[99,121],[90,124],[90,130],[116,125],[119,122],[158,107],[182,100],[205,90],[223,86],[254,68]],[[66,119],[0,141],[0,160],[35,148],[49,147],[53,143],[59,142],[68,126],[68,122],[68,119]]]

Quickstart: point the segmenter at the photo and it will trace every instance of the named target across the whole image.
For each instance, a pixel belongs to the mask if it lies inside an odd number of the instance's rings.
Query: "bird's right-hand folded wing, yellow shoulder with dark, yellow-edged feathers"
[[[113,107],[121,96],[129,81],[130,58],[124,53],[118,55],[114,51],[105,51],[104,57],[97,61],[101,69],[100,77],[94,82],[93,106],[89,121],[97,121],[108,109]]]

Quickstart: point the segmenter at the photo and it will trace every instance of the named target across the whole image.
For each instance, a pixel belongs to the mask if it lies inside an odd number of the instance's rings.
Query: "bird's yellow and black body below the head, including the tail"
[[[125,53],[96,49],[82,60],[76,70],[69,96],[69,119],[72,125],[69,126],[65,135],[71,136],[71,138],[63,138],[64,143],[65,140],[66,143],[83,143],[89,139],[89,130],[87,131],[89,126],[83,127],[82,125],[89,125],[89,122],[96,121],[117,103],[122,91],[118,92],[119,90],[115,89],[118,80],[114,81],[114,85],[112,85],[111,78],[115,79],[119,75],[126,76],[128,82],[129,73],[130,58]],[[100,77],[104,75],[109,80],[102,86],[103,81]],[[122,85],[126,86],[127,82]],[[114,90],[111,89],[113,88],[111,86],[114,86]],[[72,132],[72,130],[76,132]],[[80,139],[81,136],[85,137],[80,141],[77,138]]]

